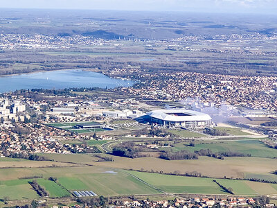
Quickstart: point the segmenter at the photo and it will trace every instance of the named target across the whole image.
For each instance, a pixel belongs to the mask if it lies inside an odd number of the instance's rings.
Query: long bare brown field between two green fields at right
[[[277,175],[271,174],[277,166],[276,159],[259,157],[225,157],[215,159],[213,157],[199,157],[193,160],[166,160],[157,157],[141,157],[130,159],[127,157],[112,156],[114,162],[91,162],[110,168],[124,168],[140,171],[163,171],[163,173],[191,173],[197,171],[209,177],[234,177],[244,178],[249,173],[261,175],[261,177],[272,177],[277,180]],[[211,168],[213,167],[213,168]]]

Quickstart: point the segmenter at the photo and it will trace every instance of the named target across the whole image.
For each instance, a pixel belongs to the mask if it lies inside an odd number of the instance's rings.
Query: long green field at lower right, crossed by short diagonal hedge
[[[184,177],[176,175],[162,175],[158,173],[143,173],[128,171],[128,173],[139,177],[141,180],[152,184],[168,193],[211,193],[229,194],[221,189],[213,178]],[[264,184],[250,182],[247,180],[217,179],[224,187],[233,189],[238,195],[259,195],[277,193],[276,184]]]

